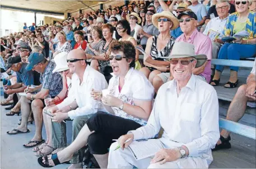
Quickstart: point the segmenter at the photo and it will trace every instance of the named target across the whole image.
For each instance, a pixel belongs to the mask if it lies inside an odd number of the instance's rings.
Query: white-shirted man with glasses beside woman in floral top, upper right
[[[218,13],[218,17],[215,17],[208,22],[206,29],[203,31],[204,35],[211,35],[211,31],[218,32],[220,35],[217,39],[212,41],[212,58],[218,58],[218,50],[220,50],[222,44],[224,43],[221,40],[221,37],[224,36],[224,26],[227,21],[227,17],[229,16],[230,3],[229,1],[217,1],[216,11]],[[211,31],[210,31],[211,30]],[[212,39],[212,38],[211,38]]]

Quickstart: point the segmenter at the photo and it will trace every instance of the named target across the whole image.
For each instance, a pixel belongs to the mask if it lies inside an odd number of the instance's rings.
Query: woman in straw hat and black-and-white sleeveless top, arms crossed
[[[145,50],[147,55],[144,55],[143,59],[146,67],[140,70],[151,83],[157,74],[170,71],[170,63],[162,58],[168,57],[171,53],[174,40],[171,39],[170,30],[176,29],[179,21],[173,13],[163,11],[152,16],[152,23],[159,29],[160,34],[148,38]]]

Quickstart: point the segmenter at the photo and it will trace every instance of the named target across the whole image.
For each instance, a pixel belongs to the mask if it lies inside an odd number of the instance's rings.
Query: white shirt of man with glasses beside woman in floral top
[[[220,37],[224,36],[223,31],[224,31],[224,26],[226,25],[227,18],[228,17],[226,17],[223,20],[221,20],[220,17],[212,18],[208,22],[208,24],[206,26],[206,29],[203,31],[203,34],[207,35],[208,31],[211,29],[213,31],[216,31],[216,32],[220,33],[220,35],[218,37],[220,39]]]

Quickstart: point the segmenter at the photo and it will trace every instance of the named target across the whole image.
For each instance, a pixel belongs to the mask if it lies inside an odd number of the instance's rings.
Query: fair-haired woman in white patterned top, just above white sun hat
[[[67,53],[69,53],[69,51],[72,50],[72,46],[67,41],[66,35],[64,32],[58,32],[56,36],[59,42],[56,45],[55,50],[53,49],[53,44],[50,43],[50,50],[52,50],[53,58],[55,57],[55,55],[59,54],[62,51],[66,51]]]

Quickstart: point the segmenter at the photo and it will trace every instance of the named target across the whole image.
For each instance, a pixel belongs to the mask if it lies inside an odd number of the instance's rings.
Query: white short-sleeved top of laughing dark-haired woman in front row
[[[155,93],[155,89],[146,76],[133,68],[129,69],[125,75],[124,86],[121,92],[119,92],[119,76],[114,75],[109,81],[108,91],[110,95],[118,97],[124,103],[129,105],[134,105],[134,100],[152,100]],[[120,110],[119,107],[111,108],[115,112],[115,115],[120,116],[121,118],[130,119],[141,125],[146,125],[145,120],[134,118],[123,110]]]

